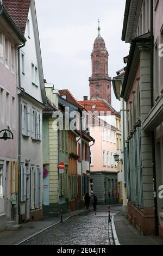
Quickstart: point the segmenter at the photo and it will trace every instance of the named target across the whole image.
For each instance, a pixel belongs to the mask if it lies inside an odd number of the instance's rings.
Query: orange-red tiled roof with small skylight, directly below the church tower
[[[116,112],[113,111],[103,100],[87,100],[87,101],[78,101],[80,105],[82,105],[86,111],[91,112],[111,112],[112,115],[115,115]]]

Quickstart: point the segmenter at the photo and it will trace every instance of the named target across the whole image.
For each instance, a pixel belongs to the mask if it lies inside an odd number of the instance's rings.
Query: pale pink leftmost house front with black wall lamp
[[[4,129],[13,139],[0,139],[0,231],[18,223],[18,97],[17,47],[26,39],[0,3],[0,137]],[[11,137],[11,133],[7,132]]]

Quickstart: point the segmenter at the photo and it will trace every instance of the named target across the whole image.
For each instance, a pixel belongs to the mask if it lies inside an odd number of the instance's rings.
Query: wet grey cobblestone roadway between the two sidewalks
[[[72,217],[21,245],[114,245],[108,211]]]

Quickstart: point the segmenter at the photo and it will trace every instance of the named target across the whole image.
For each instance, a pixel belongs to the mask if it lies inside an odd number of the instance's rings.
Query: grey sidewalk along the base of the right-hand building
[[[143,236],[131,225],[123,212],[114,216],[116,233],[121,245],[163,245],[159,236]]]

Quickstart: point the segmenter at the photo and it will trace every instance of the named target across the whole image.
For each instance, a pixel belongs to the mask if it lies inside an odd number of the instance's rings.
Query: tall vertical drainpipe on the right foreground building
[[[154,51],[154,35],[153,35],[153,0],[151,0],[151,108],[154,106],[154,74],[153,74],[153,51]],[[155,218],[155,235],[159,235],[158,222],[158,200],[157,200],[157,186],[156,186],[156,160],[155,160],[155,131],[152,131],[152,151],[153,151],[153,185],[154,185],[154,218]]]

